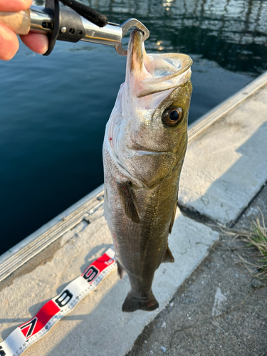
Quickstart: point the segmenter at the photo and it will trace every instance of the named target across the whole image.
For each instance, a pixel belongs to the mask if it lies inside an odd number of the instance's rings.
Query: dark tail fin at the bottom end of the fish
[[[155,296],[151,292],[150,296],[147,298],[138,298],[132,295],[131,290],[128,293],[125,302],[122,305],[122,311],[134,312],[135,310],[146,310],[152,311],[159,308],[159,303],[157,302]]]

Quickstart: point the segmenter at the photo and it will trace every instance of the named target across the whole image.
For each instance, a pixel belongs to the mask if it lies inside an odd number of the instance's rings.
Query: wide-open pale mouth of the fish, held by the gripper
[[[135,98],[177,88],[191,77],[192,59],[182,53],[147,54],[143,33],[135,29],[127,51],[125,83]]]

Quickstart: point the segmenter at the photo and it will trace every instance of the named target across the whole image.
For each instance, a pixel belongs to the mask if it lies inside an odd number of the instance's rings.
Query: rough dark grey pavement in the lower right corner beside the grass
[[[267,187],[238,221],[267,216]],[[252,278],[235,257],[244,244],[222,235],[127,356],[266,356],[267,280]],[[249,253],[248,253],[249,255]]]

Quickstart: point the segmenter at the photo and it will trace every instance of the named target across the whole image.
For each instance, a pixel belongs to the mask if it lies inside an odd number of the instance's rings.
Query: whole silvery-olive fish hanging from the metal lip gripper
[[[123,312],[159,307],[155,271],[174,262],[168,246],[187,150],[192,59],[182,53],[147,54],[142,31],[127,47],[125,83],[105,128],[104,216],[117,273],[129,277]]]

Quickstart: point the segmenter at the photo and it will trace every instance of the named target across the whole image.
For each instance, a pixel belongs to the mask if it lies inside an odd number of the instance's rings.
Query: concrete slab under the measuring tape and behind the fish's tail
[[[178,211],[169,236],[169,248],[176,261],[162,264],[153,282],[153,291],[161,308],[218,238],[216,231],[182,216]],[[97,211],[94,218],[91,216],[90,224],[82,221],[59,242],[60,246],[55,246],[52,256],[43,256],[32,271],[26,269],[23,273],[26,265],[20,268],[17,278],[8,278],[2,283],[0,335],[3,340],[111,246],[103,211]],[[122,313],[122,303],[129,289],[127,276],[120,281],[117,273],[112,271],[97,290],[81,300],[73,312],[23,355],[59,356],[74,352],[75,355],[102,356],[105,352],[112,356],[124,355],[144,325],[159,313],[159,310]],[[92,328],[93,333],[85,331]]]

